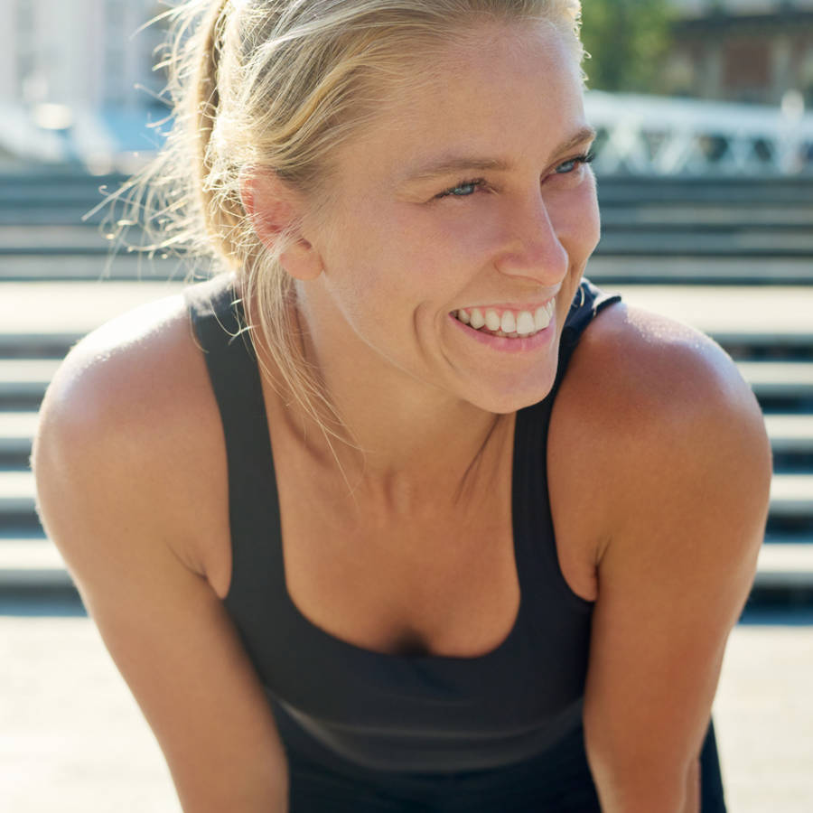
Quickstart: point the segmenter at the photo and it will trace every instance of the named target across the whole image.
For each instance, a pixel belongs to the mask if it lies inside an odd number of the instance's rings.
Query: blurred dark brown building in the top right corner
[[[668,89],[813,107],[813,0],[672,0]],[[790,96],[789,96],[790,93]]]

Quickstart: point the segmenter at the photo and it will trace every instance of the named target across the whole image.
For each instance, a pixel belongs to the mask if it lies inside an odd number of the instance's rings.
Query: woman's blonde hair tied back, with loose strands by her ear
[[[285,240],[268,248],[257,238],[240,174],[273,170],[313,199],[382,83],[420,74],[404,70],[410,55],[431,56],[483,19],[528,20],[555,25],[581,65],[580,11],[579,0],[189,0],[169,13],[173,129],[135,205],[154,229],[151,248],[237,272],[281,383],[324,431],[335,435],[328,424],[341,420],[297,340]]]

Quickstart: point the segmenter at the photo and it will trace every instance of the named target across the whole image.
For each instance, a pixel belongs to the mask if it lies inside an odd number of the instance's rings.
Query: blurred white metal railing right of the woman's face
[[[813,114],[696,99],[586,95],[596,171],[654,175],[813,175]]]

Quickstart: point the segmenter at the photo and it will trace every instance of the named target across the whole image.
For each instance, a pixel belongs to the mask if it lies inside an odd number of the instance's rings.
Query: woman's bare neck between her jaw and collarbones
[[[337,487],[400,513],[476,499],[484,484],[491,486],[511,436],[509,416],[450,397],[375,356],[325,344],[332,352],[320,352],[313,334],[304,333],[305,357],[341,419],[337,427],[325,416],[338,438],[293,398],[282,400],[286,421],[309,453],[335,467]]]

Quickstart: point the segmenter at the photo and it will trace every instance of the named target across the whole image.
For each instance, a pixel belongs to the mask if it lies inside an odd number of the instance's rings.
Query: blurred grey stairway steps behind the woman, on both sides
[[[99,323],[182,287],[173,259],[109,262],[102,215],[81,220],[119,182],[0,178],[0,593],[72,590],[27,468],[59,360]],[[589,276],[712,335],[762,405],[776,473],[752,602],[813,603],[813,179],[604,178],[599,191]]]

